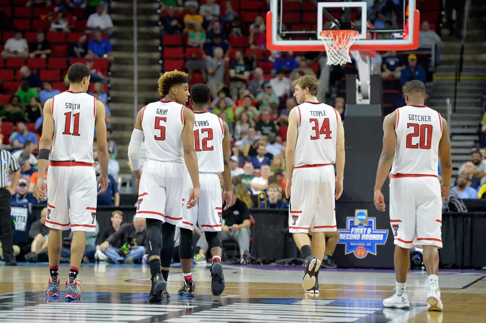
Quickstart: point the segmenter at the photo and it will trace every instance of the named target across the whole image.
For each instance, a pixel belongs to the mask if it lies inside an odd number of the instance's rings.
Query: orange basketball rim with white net
[[[323,30],[320,32],[327,53],[327,65],[351,63],[349,48],[360,35],[357,30]]]

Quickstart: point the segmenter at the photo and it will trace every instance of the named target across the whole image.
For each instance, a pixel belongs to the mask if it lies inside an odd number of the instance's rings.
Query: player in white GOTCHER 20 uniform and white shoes
[[[449,195],[451,144],[447,122],[437,111],[424,105],[426,99],[423,82],[408,82],[405,89],[407,106],[396,109],[383,121],[383,151],[376,173],[374,204],[379,211],[385,211],[381,187],[391,167],[390,224],[395,238],[396,289],[383,305],[401,309],[410,307],[406,291],[409,248],[422,245],[430,284],[428,310],[442,311],[437,249],[442,248],[441,197],[445,199]],[[442,186],[437,179],[437,155]]]

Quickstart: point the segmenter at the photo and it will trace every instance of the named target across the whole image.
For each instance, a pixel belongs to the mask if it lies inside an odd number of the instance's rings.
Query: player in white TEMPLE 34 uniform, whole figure
[[[326,248],[324,232],[336,231],[334,199],[343,192],[345,161],[341,116],[331,106],[317,102],[317,84],[315,76],[294,82],[298,106],[289,115],[286,153],[289,231],[305,259],[302,286],[309,293],[319,292],[317,273]]]

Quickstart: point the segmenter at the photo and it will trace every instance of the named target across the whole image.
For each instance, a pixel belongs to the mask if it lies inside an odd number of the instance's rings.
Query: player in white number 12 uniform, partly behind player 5
[[[207,111],[211,104],[211,90],[205,84],[195,84],[191,88],[190,100],[194,111],[194,140],[199,165],[199,181],[201,190],[199,203],[192,209],[182,211],[181,244],[179,256],[181,258],[184,285],[179,295],[193,296],[195,284],[192,281],[192,231],[196,223],[205,232],[213,263],[211,272],[211,292],[219,296],[225,290],[223,266],[221,265],[222,243],[218,236],[221,231],[223,215],[221,200],[221,184],[219,174],[222,173],[225,184],[223,200],[226,201],[225,210],[233,204],[231,187],[231,134],[228,124],[216,114]],[[189,190],[192,189],[188,183]]]

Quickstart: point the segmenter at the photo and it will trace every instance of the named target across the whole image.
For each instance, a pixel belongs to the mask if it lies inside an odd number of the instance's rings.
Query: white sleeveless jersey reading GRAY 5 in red
[[[184,162],[182,129],[184,106],[161,100],[142,109],[142,129],[147,159],[160,162]]]

